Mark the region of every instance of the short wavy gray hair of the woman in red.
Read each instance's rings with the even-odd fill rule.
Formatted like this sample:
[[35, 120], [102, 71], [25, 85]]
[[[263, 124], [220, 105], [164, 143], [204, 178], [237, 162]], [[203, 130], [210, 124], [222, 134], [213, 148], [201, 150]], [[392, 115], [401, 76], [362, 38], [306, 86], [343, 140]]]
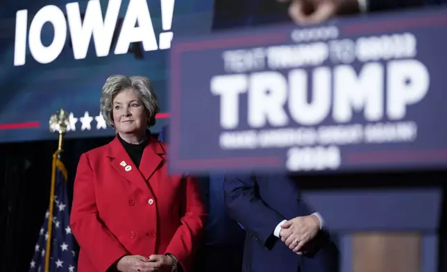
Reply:
[[107, 78], [106, 83], [103, 85], [101, 93], [101, 114], [103, 115], [106, 123], [114, 127], [113, 124], [113, 99], [119, 94], [119, 92], [133, 89], [138, 92], [140, 99], [146, 108], [148, 114], [148, 128], [155, 125], [155, 115], [160, 112], [158, 108], [158, 100], [149, 78], [144, 76], [121, 76], [114, 75]]

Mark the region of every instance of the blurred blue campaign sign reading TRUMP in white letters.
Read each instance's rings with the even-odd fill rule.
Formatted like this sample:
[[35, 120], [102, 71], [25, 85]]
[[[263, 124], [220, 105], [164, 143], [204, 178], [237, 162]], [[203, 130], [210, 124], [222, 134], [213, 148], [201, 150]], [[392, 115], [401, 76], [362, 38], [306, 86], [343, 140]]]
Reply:
[[176, 40], [171, 171], [447, 165], [447, 10]]

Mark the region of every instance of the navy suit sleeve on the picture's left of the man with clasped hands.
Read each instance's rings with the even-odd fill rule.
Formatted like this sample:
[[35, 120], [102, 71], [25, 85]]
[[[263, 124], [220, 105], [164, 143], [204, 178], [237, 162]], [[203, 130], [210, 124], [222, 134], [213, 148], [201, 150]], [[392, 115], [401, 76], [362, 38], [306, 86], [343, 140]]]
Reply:
[[258, 196], [255, 176], [226, 176], [224, 189], [230, 217], [262, 245], [267, 246], [276, 226], [285, 218]]

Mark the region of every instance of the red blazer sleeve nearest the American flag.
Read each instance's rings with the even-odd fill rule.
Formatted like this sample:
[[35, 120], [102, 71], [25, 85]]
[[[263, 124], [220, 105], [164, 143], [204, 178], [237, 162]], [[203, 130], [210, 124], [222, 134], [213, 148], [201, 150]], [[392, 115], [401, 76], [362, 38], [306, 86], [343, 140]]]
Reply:
[[84, 153], [79, 160], [74, 180], [70, 227], [96, 271], [103, 272], [129, 253], [99, 219], [93, 171], [89, 158]]

